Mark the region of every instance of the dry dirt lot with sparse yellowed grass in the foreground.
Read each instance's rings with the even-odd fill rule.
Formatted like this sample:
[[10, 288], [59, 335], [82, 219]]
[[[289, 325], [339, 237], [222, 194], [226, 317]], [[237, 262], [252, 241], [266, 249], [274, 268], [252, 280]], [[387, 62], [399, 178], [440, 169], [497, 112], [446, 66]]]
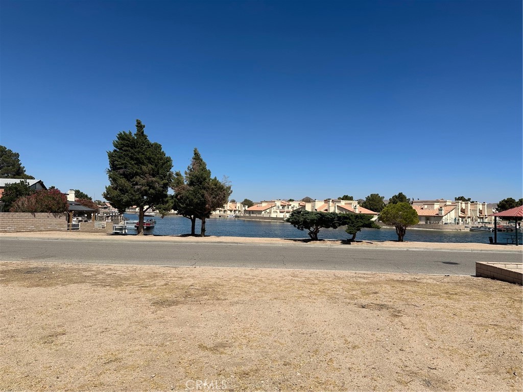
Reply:
[[331, 271], [0, 268], [2, 390], [522, 387], [522, 291], [509, 283]]

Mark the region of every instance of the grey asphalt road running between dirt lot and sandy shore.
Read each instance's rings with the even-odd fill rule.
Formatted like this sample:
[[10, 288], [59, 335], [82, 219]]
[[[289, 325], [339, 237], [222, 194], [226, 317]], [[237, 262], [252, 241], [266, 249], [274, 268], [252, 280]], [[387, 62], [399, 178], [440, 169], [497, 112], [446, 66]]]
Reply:
[[2, 238], [0, 260], [474, 275], [476, 261], [520, 262], [521, 254], [358, 249], [305, 244], [180, 244]]

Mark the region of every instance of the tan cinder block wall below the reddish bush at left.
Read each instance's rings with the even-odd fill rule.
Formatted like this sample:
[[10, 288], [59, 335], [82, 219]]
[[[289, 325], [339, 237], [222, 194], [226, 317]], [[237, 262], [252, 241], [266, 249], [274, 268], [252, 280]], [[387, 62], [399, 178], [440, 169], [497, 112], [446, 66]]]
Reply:
[[67, 214], [2, 212], [0, 233], [55, 232], [67, 230]]

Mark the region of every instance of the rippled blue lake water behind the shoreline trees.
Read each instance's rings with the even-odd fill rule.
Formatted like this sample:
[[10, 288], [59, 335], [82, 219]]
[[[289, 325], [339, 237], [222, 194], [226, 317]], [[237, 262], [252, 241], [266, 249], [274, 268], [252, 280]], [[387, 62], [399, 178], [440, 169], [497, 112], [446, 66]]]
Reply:
[[[129, 220], [137, 220], [133, 214], [124, 215]], [[152, 235], [181, 235], [191, 231], [191, 223], [183, 216], [166, 216], [163, 219], [156, 217], [156, 226], [146, 230], [145, 234]], [[279, 221], [251, 221], [243, 219], [210, 218], [206, 224], [206, 235], [221, 237], [267, 237], [267, 238], [309, 238], [307, 231], [301, 231], [287, 222]], [[200, 232], [200, 221], [196, 221], [196, 233]], [[128, 234], [136, 234], [136, 230], [128, 226]], [[513, 233], [511, 233], [513, 234]], [[407, 228], [405, 241], [429, 243], [482, 243], [488, 244], [488, 237], [494, 233], [488, 232], [454, 232], [449, 230], [425, 230]], [[344, 229], [321, 229], [320, 239], [347, 239], [349, 236]], [[505, 243], [507, 235], [497, 233], [499, 243]], [[356, 240], [388, 241], [397, 240], [394, 228], [362, 229], [356, 235]]]

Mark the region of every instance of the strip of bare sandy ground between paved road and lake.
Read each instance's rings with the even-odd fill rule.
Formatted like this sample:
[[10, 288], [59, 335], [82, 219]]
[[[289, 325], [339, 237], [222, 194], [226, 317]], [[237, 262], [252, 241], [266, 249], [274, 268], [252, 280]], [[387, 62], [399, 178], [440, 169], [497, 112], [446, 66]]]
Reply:
[[426, 243], [404, 241], [367, 241], [356, 240], [348, 243], [346, 240], [319, 240], [310, 241], [307, 238], [264, 238], [264, 237], [225, 237], [208, 236], [193, 237], [187, 235], [155, 236], [155, 235], [113, 235], [106, 233], [82, 233], [82, 232], [16, 232], [0, 233], [2, 238], [19, 239], [53, 239], [53, 240], [99, 240], [111, 241], [168, 241], [179, 243], [233, 243], [233, 244], [258, 244], [258, 245], [294, 245], [294, 246], [341, 246], [357, 247], [360, 249], [398, 249], [398, 250], [452, 250], [452, 251], [484, 251], [484, 252], [517, 252], [523, 253], [523, 246], [505, 244], [480, 244], [480, 243]]

